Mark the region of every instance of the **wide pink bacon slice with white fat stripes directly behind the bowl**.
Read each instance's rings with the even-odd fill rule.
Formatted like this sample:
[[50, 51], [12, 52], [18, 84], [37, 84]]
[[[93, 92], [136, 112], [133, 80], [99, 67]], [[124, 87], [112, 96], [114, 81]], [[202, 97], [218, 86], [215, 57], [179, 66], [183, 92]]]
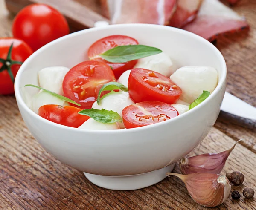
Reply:
[[167, 25], [177, 0], [101, 0], [102, 13], [112, 24], [151, 23]]

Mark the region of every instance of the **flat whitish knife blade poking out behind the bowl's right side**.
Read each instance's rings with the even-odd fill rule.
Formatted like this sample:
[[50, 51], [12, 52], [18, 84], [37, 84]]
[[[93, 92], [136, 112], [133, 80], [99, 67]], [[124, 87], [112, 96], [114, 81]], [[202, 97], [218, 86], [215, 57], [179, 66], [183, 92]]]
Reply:
[[225, 92], [221, 110], [242, 118], [256, 120], [256, 108], [228, 92]]

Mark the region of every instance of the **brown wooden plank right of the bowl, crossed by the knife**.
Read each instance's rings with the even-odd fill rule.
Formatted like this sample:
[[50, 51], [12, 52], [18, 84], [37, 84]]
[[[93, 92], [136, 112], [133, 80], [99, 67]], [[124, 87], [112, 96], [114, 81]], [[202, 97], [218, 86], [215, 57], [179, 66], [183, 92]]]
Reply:
[[[256, 107], [256, 1], [241, 0], [233, 9], [246, 17], [250, 30], [218, 39], [227, 63], [227, 91]], [[256, 121], [221, 112], [215, 127], [236, 140], [247, 139], [245, 146], [256, 151]]]

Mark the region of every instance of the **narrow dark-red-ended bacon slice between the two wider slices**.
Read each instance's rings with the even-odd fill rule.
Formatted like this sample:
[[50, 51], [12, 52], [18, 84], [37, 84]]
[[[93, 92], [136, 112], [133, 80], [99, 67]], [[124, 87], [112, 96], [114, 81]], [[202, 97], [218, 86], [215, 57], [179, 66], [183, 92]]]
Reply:
[[181, 28], [195, 19], [203, 0], [178, 0], [169, 26]]

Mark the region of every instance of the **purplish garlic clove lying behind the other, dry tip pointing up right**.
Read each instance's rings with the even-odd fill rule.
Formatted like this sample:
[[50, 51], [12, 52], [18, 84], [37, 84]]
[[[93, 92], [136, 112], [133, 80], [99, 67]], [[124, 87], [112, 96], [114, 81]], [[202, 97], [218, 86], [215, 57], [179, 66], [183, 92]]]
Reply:
[[[244, 139], [240, 139], [239, 141], [242, 141]], [[203, 155], [196, 155], [194, 157], [190, 158], [181, 158], [180, 159], [180, 171], [182, 174], [190, 174], [190, 173], [221, 173], [221, 170], [223, 169], [225, 162], [230, 155], [230, 153], [233, 151], [233, 149], [236, 147], [236, 144], [239, 142], [237, 141], [233, 147], [231, 147], [229, 150], [226, 150], [224, 152], [215, 154], [215, 153], [209, 153], [209, 154], [203, 154]]]

